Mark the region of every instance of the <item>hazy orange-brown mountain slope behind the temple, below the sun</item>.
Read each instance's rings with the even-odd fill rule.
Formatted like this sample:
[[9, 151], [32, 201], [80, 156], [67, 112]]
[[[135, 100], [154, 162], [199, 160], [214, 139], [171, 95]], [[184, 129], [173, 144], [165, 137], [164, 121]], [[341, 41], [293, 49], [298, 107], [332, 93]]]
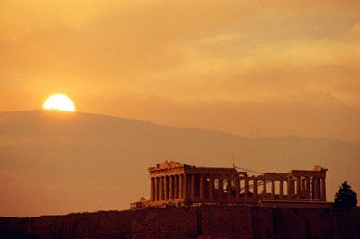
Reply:
[[147, 169], [166, 159], [235, 163], [260, 172], [329, 168], [360, 192], [360, 144], [306, 137], [250, 138], [88, 113], [0, 113], [0, 216], [129, 208], [149, 195]]

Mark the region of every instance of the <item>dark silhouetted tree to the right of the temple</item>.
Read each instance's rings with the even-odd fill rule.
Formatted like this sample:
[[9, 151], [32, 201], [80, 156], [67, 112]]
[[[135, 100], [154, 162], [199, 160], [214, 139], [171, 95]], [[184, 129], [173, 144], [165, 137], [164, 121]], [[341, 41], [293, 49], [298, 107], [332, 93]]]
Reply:
[[337, 208], [352, 208], [357, 205], [357, 194], [351, 189], [351, 186], [344, 181], [338, 192], [335, 193], [334, 205]]

